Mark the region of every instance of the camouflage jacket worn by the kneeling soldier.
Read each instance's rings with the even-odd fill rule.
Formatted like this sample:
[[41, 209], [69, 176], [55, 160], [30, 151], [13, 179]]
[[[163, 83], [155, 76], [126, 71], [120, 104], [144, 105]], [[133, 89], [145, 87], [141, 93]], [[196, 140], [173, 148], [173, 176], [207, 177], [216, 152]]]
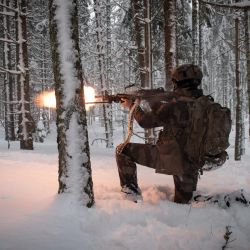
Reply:
[[[178, 90], [177, 90], [178, 91]], [[179, 90], [183, 95], [171, 102], [159, 102], [153, 105], [150, 112], [144, 112], [140, 107], [134, 117], [142, 128], [163, 127], [156, 143], [158, 155], [155, 163], [157, 173], [182, 175], [199, 168], [197, 163], [190, 162], [183, 152], [186, 136], [183, 131], [189, 124], [187, 102], [202, 95], [201, 90]]]

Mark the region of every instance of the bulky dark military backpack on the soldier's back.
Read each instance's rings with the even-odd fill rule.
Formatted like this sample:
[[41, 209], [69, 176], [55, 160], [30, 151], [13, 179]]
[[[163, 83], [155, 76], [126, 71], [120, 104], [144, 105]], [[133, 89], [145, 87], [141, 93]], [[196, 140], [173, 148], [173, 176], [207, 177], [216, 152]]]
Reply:
[[228, 159], [231, 112], [214, 102], [211, 96], [201, 96], [188, 102], [189, 124], [186, 126], [184, 153], [198, 168], [210, 170]]

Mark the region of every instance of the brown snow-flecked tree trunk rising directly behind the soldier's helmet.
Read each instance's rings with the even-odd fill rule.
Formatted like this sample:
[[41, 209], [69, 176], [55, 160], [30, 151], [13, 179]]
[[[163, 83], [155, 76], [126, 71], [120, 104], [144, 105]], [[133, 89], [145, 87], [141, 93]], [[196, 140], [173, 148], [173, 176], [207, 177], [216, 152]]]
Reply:
[[166, 89], [172, 88], [171, 72], [175, 66], [175, 3], [176, 0], [165, 0], [165, 73], [166, 73]]

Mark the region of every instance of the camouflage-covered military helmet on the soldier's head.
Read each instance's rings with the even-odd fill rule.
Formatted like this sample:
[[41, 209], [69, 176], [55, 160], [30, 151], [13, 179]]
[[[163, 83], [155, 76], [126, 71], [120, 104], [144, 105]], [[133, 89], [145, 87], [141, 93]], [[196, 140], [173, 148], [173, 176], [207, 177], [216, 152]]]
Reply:
[[198, 86], [201, 83], [202, 77], [201, 69], [194, 64], [183, 64], [175, 68], [172, 72], [172, 80], [180, 86], [184, 82], [193, 83]]

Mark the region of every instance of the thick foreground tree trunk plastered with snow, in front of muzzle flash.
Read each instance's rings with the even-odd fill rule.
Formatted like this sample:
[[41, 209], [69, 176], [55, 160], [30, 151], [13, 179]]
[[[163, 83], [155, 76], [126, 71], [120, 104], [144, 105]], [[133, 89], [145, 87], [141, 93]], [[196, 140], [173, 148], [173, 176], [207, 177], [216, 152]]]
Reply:
[[79, 49], [77, 1], [49, 1], [55, 78], [59, 190], [83, 205], [94, 204], [89, 140]]

